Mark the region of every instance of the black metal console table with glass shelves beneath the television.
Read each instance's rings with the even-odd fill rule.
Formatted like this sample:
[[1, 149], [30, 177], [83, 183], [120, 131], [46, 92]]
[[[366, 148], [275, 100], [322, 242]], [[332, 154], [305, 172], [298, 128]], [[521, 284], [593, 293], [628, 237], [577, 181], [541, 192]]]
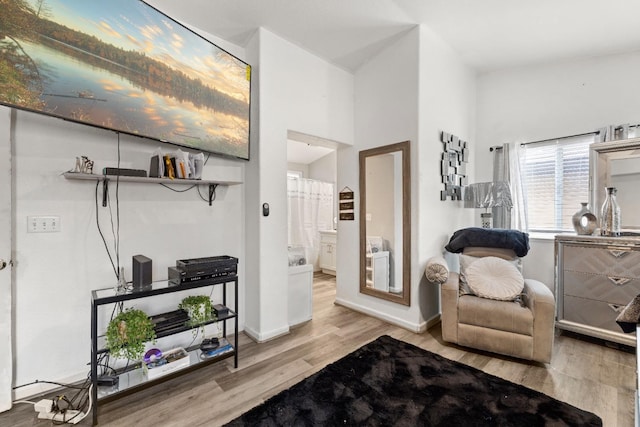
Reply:
[[[186, 348], [189, 353], [190, 364], [182, 369], [167, 373], [159, 378], [149, 380], [144, 374], [140, 363], [133, 363], [125, 369], [117, 371], [118, 384], [114, 386], [98, 387], [98, 358], [101, 354], [107, 353], [104, 347], [104, 337], [98, 335], [98, 309], [106, 304], [120, 303], [123, 301], [136, 300], [141, 298], [151, 298], [157, 295], [182, 292], [189, 289], [203, 288], [207, 286], [222, 286], [222, 304], [227, 306], [227, 286], [233, 286], [234, 289], [234, 306], [229, 307], [229, 313], [224, 316], [218, 316], [217, 320], [208, 323], [222, 322], [222, 334], [227, 338], [227, 321], [235, 319], [233, 340], [229, 343], [233, 346], [233, 350], [220, 354], [211, 358], [202, 360], [200, 358], [199, 344]], [[176, 303], [177, 305], [177, 303]], [[154, 282], [149, 288], [136, 291], [117, 291], [115, 288], [97, 289], [91, 291], [91, 398], [93, 401], [93, 424], [98, 422], [98, 406], [100, 403], [115, 400], [127, 394], [149, 387], [162, 381], [175, 378], [186, 372], [201, 368], [211, 363], [219, 362], [223, 359], [233, 357], [233, 366], [238, 367], [238, 276], [225, 276], [215, 279], [199, 280], [195, 282], [183, 283], [181, 285], [172, 285], [168, 281]], [[199, 327], [187, 326], [173, 329], [170, 332], [158, 333], [157, 338], [173, 335], [176, 333], [189, 331]]]

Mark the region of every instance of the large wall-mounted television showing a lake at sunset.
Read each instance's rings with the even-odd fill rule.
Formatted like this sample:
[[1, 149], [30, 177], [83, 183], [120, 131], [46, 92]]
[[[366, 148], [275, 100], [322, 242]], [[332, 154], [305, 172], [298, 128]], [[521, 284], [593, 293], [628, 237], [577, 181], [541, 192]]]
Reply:
[[141, 0], [0, 5], [0, 104], [249, 159], [247, 63]]

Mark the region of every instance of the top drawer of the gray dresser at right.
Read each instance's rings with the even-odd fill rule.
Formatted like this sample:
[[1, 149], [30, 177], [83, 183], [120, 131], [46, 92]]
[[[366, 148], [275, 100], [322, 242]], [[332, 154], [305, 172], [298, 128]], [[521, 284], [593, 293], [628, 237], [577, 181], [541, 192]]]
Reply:
[[616, 277], [640, 277], [640, 251], [607, 246], [563, 246], [563, 270]]

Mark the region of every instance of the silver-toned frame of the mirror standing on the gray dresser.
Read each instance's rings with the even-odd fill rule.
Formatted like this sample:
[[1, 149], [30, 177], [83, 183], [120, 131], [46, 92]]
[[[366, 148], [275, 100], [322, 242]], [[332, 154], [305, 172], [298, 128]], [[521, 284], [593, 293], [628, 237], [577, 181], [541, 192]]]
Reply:
[[[605, 199], [603, 191], [610, 174], [609, 162], [616, 158], [624, 158], [625, 153], [640, 150], [640, 138], [620, 139], [616, 141], [594, 142], [589, 145], [589, 207], [598, 220], [600, 219], [600, 207]], [[637, 224], [625, 224], [624, 213], [621, 229], [637, 230]], [[598, 223], [599, 224], [599, 223]]]

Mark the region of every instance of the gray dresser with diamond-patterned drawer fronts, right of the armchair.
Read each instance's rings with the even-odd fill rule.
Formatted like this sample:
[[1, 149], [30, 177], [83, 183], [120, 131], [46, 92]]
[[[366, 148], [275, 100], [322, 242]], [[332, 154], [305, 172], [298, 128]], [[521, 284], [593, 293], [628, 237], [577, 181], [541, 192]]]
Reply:
[[616, 316], [640, 294], [640, 239], [557, 235], [556, 326], [630, 346]]

